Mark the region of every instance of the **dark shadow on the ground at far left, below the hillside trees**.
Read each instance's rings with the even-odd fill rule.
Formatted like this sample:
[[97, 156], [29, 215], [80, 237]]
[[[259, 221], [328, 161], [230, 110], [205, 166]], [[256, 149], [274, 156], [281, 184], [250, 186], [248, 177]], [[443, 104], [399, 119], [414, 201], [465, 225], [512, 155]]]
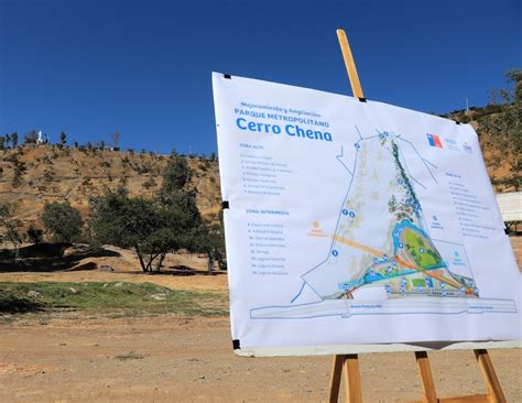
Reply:
[[[67, 252], [67, 253], [66, 253]], [[118, 258], [120, 253], [93, 249], [87, 246], [66, 243], [40, 243], [19, 249], [18, 258], [12, 250], [0, 250], [0, 272], [56, 272], [67, 270], [95, 270], [96, 263], [78, 265], [87, 258]]]

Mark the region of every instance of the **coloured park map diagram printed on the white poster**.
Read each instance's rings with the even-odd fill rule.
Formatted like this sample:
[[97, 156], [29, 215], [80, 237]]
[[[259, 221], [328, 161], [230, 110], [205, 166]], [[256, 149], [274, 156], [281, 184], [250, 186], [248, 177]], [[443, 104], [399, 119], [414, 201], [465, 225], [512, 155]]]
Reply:
[[[359, 138], [351, 170], [338, 157], [351, 179], [335, 233], [317, 224], [311, 232], [331, 238], [328, 257], [302, 275], [290, 305], [251, 309], [251, 318], [516, 312], [513, 301], [480, 297], [464, 244], [431, 238], [415, 192], [424, 185], [401, 146], [413, 148], [434, 182], [435, 165], [394, 133]], [[305, 287], [317, 302], [298, 303]]]

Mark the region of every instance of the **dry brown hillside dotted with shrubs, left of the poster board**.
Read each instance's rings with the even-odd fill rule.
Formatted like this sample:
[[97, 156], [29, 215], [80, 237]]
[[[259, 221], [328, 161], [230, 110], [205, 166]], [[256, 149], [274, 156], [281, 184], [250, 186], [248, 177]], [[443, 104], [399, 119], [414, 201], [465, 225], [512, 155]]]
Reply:
[[[124, 185], [131, 196], [152, 197], [162, 183], [168, 155], [23, 145], [0, 151], [0, 200], [13, 203], [24, 227], [40, 217], [46, 202], [68, 200], [84, 216], [91, 196]], [[188, 159], [192, 185], [203, 217], [215, 221], [220, 209], [217, 161]]]

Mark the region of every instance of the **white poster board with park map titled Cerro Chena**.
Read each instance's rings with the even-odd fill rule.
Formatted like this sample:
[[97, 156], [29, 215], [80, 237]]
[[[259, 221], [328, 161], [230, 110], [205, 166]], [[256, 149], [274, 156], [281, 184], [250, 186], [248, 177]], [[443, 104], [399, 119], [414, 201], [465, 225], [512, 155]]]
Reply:
[[236, 348], [521, 337], [470, 126], [217, 73], [213, 87]]

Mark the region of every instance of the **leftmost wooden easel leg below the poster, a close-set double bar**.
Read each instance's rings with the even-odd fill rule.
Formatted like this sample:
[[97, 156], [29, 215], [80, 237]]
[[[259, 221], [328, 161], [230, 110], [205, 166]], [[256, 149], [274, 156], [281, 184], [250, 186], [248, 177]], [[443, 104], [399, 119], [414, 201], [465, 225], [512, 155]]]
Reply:
[[359, 371], [359, 358], [357, 355], [340, 355], [334, 357], [328, 402], [337, 403], [339, 399], [342, 368], [345, 368], [347, 402], [361, 403], [361, 377]]

